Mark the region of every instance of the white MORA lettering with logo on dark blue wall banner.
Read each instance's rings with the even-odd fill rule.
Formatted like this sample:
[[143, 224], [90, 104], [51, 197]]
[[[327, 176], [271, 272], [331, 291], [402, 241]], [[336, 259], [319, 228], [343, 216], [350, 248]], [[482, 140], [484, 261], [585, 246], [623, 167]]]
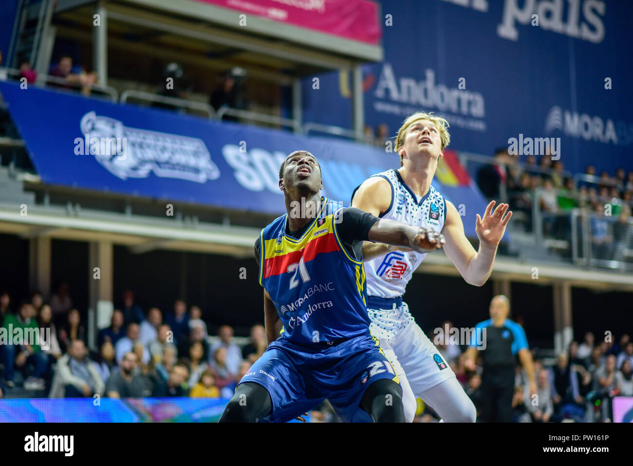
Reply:
[[585, 141], [591, 140], [603, 144], [628, 146], [633, 142], [633, 125], [629, 123], [618, 122], [616, 131], [611, 118], [605, 121], [599, 116], [563, 111], [559, 106], [553, 106], [545, 118], [545, 131], [551, 133], [555, 130], [560, 130], [571, 137], [582, 137]]

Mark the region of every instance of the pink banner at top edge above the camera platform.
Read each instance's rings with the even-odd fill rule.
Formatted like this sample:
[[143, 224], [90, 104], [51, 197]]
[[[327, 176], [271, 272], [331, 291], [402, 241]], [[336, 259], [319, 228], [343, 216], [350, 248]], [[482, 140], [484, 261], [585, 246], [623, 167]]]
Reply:
[[[377, 45], [378, 5], [368, 0], [196, 0], [325, 34]], [[247, 18], [248, 20], [248, 18]]]

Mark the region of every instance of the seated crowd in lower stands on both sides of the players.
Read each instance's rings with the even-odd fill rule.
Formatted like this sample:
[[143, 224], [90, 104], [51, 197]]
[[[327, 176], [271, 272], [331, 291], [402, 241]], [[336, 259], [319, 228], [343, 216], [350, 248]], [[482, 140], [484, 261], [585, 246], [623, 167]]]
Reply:
[[[208, 336], [199, 307], [187, 309], [185, 301], [177, 299], [170, 312], [153, 307], [145, 313], [132, 291], [125, 291], [110, 326], [97, 335], [97, 350], [89, 351], [85, 326], [66, 284], [61, 284], [49, 303], [34, 293], [30, 300], [13, 306], [9, 294], [1, 293], [0, 321], [4, 329], [9, 325], [50, 329], [41, 344], [0, 345], [0, 393], [5, 396], [15, 390], [19, 372], [24, 390], [50, 398], [97, 394], [230, 398], [266, 349], [262, 325], [251, 328], [250, 343], [243, 347], [234, 342], [229, 325], [220, 327], [211, 343], [214, 339]], [[441, 328], [452, 327], [445, 322]], [[468, 370], [465, 348], [448, 340], [439, 339], [437, 348], [479, 409], [481, 367]], [[610, 338], [596, 342], [594, 334], [587, 332], [582, 343], [572, 341], [549, 367], [533, 353], [539, 401], [534, 404], [527, 375], [517, 365], [513, 400], [517, 422], [609, 421], [613, 396], [633, 396], [633, 341], [628, 334], [613, 343]], [[417, 422], [437, 422], [428, 406], [420, 403], [418, 408]], [[327, 401], [310, 413], [310, 420], [340, 422]]]

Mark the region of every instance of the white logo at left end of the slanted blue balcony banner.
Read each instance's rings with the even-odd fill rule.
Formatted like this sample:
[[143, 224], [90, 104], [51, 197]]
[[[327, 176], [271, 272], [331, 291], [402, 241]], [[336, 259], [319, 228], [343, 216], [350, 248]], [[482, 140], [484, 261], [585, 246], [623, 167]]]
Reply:
[[158, 131], [130, 128], [119, 120], [86, 113], [80, 123], [84, 139], [75, 139], [75, 154], [91, 154], [122, 180], [161, 178], [204, 183], [220, 177], [204, 141]]

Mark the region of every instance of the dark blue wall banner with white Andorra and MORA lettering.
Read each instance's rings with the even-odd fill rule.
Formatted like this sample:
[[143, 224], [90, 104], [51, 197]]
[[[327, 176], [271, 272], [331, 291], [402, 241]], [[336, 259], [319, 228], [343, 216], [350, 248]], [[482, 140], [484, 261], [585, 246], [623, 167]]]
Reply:
[[[630, 1], [381, 3], [385, 60], [363, 69], [374, 129], [386, 123], [394, 136], [406, 116], [434, 111], [458, 151], [548, 138], [573, 172], [633, 170]], [[320, 75], [316, 87], [304, 80], [304, 120], [350, 128], [351, 76]]]

